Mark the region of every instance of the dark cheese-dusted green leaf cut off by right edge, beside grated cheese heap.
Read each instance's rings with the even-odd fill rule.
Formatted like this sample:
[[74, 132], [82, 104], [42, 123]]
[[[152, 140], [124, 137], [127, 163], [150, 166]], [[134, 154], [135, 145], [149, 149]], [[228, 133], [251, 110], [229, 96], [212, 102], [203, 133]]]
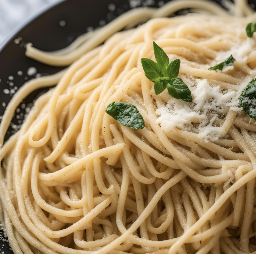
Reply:
[[239, 107], [256, 120], [256, 77], [242, 91], [238, 99]]

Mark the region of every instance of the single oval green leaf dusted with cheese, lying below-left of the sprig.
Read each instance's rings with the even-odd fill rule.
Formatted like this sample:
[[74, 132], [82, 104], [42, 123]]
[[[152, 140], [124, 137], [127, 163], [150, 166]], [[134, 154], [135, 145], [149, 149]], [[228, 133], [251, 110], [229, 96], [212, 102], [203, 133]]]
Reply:
[[139, 130], [145, 127], [145, 122], [134, 105], [112, 102], [107, 106], [106, 113], [116, 119], [119, 124], [131, 127], [131, 129]]

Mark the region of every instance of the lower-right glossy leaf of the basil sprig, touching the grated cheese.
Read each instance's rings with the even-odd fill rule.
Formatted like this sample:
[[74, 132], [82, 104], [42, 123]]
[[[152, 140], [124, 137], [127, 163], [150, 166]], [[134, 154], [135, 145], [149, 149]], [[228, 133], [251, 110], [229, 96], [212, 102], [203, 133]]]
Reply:
[[176, 99], [192, 102], [191, 91], [181, 78], [175, 77], [167, 85], [168, 93]]

